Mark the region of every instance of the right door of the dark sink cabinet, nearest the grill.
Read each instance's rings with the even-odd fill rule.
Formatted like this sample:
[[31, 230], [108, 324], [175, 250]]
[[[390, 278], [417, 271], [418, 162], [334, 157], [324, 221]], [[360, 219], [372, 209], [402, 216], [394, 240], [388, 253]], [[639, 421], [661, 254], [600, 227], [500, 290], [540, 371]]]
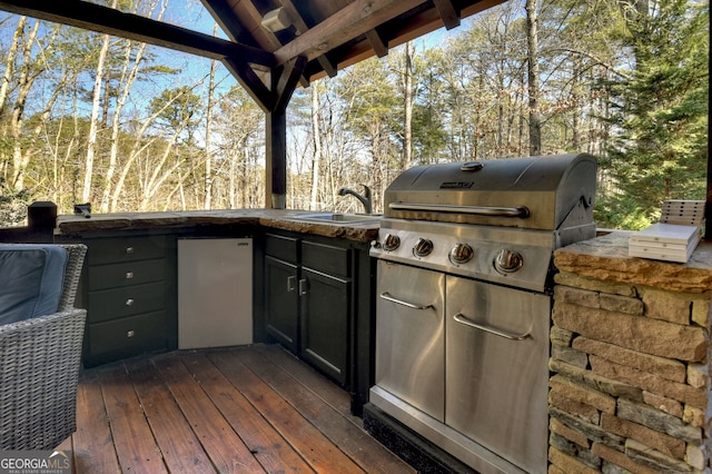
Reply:
[[300, 355], [342, 385], [348, 374], [350, 280], [301, 268]]

